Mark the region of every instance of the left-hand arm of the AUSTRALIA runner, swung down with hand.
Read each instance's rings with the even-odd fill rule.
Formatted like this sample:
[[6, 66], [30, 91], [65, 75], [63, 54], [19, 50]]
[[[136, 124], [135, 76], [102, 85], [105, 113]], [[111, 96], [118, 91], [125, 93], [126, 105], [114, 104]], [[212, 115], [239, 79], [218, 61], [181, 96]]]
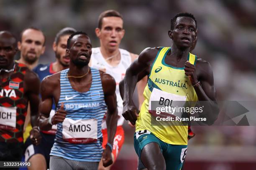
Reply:
[[138, 74], [150, 67], [158, 50], [158, 48], [146, 48], [141, 52], [138, 59], [126, 70], [124, 78], [123, 117], [133, 125], [135, 125], [138, 117], [138, 110], [132, 101], [132, 95], [138, 81]]

